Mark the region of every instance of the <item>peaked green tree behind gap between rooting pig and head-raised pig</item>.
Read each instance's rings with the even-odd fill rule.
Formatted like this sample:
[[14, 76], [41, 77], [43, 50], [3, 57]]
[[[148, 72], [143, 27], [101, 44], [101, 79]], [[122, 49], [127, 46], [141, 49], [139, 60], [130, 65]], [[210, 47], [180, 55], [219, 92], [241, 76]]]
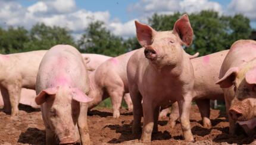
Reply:
[[80, 51], [84, 53], [97, 53], [107, 56], [118, 56], [126, 53], [121, 37], [114, 36], [101, 21], [91, 22], [85, 33], [78, 41]]

